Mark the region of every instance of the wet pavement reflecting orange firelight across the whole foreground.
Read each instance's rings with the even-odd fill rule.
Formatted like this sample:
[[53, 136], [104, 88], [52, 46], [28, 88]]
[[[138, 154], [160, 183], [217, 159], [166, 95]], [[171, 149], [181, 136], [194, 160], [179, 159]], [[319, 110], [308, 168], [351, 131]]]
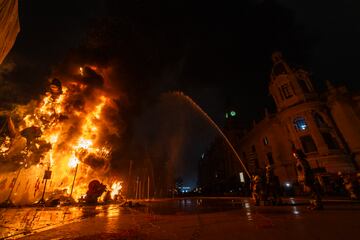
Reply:
[[306, 199], [253, 206], [247, 198], [167, 199], [119, 205], [0, 209], [5, 239], [345, 239], [360, 237], [360, 203]]

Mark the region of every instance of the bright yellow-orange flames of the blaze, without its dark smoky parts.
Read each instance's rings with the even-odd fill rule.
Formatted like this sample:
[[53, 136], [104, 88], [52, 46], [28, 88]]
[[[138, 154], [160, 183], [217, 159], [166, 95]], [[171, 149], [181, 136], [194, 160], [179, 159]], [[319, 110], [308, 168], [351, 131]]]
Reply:
[[[97, 70], [96, 67], [91, 68]], [[79, 70], [82, 75], [84, 69], [80, 68]], [[59, 91], [56, 96], [47, 92], [37, 107], [32, 102], [32, 105], [29, 103], [27, 106], [19, 106], [17, 109], [20, 119], [23, 119], [19, 123], [19, 131], [30, 127], [36, 127], [41, 131], [41, 136], [37, 138], [38, 142], [34, 144], [35, 150], [39, 151], [44, 143], [51, 146], [41, 156], [39, 162], [24, 170], [24, 172], [26, 171], [24, 175], [29, 179], [36, 180], [42, 178], [44, 170], [50, 167], [52, 183], [47, 192], [57, 189], [69, 190], [72, 186], [73, 169], [78, 166], [72, 193], [75, 200], [86, 193], [88, 183], [93, 179], [101, 177], [104, 183], [111, 184], [110, 180], [102, 176], [103, 173], [94, 170], [87, 161], [92, 159], [109, 161], [111, 147], [104, 143], [101, 131], [106, 127], [103, 110], [105, 107], [113, 106], [113, 102], [107, 97], [105, 91], [96, 90], [97, 92], [91, 97], [84, 98], [83, 108], [73, 107], [71, 101], [73, 95], [81, 93], [85, 89], [86, 85], [83, 83], [69, 81], [63, 84], [62, 91]], [[5, 139], [0, 146], [0, 154], [5, 154], [10, 146], [10, 139]], [[30, 148], [23, 150], [26, 158], [33, 154], [32, 151]], [[30, 182], [30, 184], [35, 186], [35, 182]], [[121, 188], [121, 181], [112, 183], [111, 196], [114, 197], [118, 194]], [[28, 192], [28, 190], [24, 192]], [[35, 198], [38, 197], [37, 194], [38, 192], [35, 191]], [[30, 199], [29, 201], [34, 200]]]

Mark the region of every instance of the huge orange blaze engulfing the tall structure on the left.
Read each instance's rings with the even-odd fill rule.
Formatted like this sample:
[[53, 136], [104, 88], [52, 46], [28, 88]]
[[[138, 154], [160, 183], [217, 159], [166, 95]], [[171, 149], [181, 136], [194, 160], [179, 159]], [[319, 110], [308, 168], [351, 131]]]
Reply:
[[[13, 201], [35, 202], [42, 194], [44, 179], [47, 180], [45, 170], [52, 172], [46, 189], [49, 197], [54, 192], [71, 192], [77, 201], [94, 179], [112, 186], [108, 189], [114, 192], [112, 197], [118, 194], [120, 179], [108, 176], [112, 148], [106, 138], [113, 130], [104, 117], [105, 110], [116, 110], [115, 104], [102, 87], [91, 87], [92, 79], [90, 83], [83, 80], [85, 70], [80, 69], [82, 81], [53, 79], [39, 103], [13, 111], [18, 120], [12, 120], [11, 115], [7, 121], [10, 133], [0, 142], [0, 157], [18, 166], [15, 171], [1, 174], [1, 199], [9, 192], [7, 184], [1, 184], [20, 173]], [[87, 71], [96, 74], [90, 68]]]

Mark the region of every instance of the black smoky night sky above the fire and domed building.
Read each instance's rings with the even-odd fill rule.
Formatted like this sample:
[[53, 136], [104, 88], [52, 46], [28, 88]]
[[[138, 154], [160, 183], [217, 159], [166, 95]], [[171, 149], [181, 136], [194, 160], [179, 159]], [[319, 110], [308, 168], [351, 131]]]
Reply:
[[[194, 185], [197, 159], [214, 133], [163, 93], [183, 91], [220, 125], [234, 109], [246, 127], [265, 107], [274, 111], [267, 87], [276, 50], [309, 70], [319, 90], [327, 79], [359, 90], [360, 3], [237, 2], [20, 0], [21, 32], [0, 67], [1, 106], [39, 97], [59, 66], [111, 64], [114, 84], [127, 96], [123, 148], [148, 152], [157, 133], [174, 137], [184, 145], [177, 174]], [[166, 132], [174, 126], [183, 130]]]

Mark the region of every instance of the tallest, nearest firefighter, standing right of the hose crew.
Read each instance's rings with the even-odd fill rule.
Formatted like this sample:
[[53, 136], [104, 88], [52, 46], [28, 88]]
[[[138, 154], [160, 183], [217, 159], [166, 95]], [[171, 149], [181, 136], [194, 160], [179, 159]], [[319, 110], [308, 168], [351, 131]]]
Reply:
[[310, 207], [311, 210], [323, 209], [321, 200], [321, 187], [316, 180], [315, 175], [301, 150], [293, 149], [293, 156], [296, 159], [296, 171], [298, 182], [304, 187], [304, 191], [311, 193]]

